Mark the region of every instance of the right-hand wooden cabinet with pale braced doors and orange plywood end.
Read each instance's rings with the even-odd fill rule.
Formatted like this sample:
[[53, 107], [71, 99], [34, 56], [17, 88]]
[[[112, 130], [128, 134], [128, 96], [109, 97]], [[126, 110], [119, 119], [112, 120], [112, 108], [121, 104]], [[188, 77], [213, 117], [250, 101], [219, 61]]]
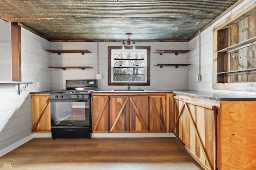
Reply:
[[206, 170], [254, 170], [255, 105], [176, 94], [173, 132]]

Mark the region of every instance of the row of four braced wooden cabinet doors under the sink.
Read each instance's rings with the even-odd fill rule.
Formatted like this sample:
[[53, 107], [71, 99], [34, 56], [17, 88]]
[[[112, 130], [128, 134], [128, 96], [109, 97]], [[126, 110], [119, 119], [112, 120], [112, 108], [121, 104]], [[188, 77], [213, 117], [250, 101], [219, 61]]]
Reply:
[[166, 93], [92, 93], [92, 132], [169, 132], [169, 104]]

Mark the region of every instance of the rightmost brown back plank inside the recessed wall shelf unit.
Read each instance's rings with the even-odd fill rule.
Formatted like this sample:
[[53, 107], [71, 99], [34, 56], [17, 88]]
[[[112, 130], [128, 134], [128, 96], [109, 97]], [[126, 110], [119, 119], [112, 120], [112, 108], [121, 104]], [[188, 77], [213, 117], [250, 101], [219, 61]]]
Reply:
[[[256, 13], [248, 16], [248, 39], [256, 37]], [[248, 68], [256, 68], [256, 45], [248, 47]], [[256, 82], [256, 73], [248, 74], [248, 82]]]

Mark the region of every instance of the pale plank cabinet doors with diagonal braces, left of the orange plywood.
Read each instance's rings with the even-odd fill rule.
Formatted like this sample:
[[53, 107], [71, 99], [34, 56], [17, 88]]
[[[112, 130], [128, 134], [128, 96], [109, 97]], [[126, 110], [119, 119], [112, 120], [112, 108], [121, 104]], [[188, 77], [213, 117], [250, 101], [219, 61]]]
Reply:
[[216, 169], [216, 106], [174, 96], [173, 132], [204, 169]]

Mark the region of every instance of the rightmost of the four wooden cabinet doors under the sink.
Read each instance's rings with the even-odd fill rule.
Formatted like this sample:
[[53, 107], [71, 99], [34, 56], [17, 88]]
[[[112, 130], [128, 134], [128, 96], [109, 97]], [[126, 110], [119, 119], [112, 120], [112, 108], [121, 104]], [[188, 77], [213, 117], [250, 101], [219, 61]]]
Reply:
[[150, 96], [149, 131], [166, 132], [166, 96]]

